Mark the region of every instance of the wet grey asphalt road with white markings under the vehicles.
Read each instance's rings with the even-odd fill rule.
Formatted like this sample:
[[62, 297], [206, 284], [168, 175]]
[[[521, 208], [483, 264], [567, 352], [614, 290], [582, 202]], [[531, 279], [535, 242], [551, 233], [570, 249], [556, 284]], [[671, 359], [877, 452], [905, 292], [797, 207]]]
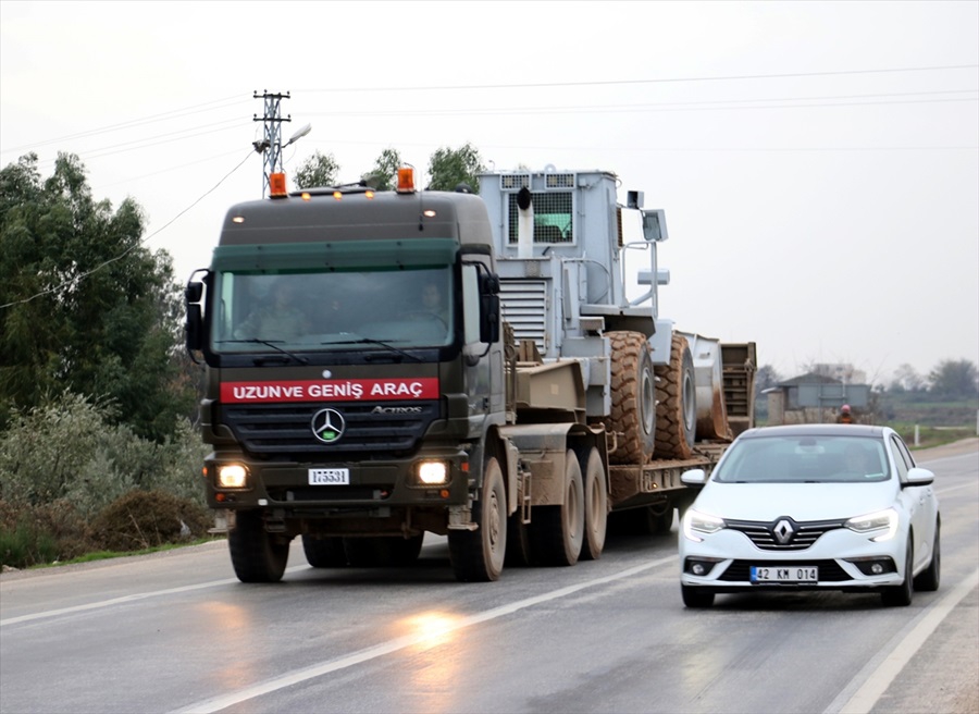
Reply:
[[686, 611], [668, 537], [455, 582], [310, 568], [246, 586], [223, 543], [0, 577], [0, 712], [976, 712], [979, 442], [918, 455], [942, 587], [719, 595]]

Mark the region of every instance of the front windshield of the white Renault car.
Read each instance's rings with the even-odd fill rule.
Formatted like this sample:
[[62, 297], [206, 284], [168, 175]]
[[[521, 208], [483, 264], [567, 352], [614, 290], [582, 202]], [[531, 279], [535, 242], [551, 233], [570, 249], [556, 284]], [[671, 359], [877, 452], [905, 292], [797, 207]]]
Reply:
[[883, 442], [860, 436], [742, 439], [712, 480], [720, 483], [866, 483], [890, 478]]

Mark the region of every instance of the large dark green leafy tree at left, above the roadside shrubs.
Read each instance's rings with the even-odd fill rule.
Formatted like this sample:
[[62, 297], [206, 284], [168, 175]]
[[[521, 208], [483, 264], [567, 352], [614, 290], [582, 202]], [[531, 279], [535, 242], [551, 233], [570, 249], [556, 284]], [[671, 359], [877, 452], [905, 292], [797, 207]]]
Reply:
[[193, 410], [181, 288], [142, 232], [132, 198], [115, 211], [92, 198], [74, 155], [45, 181], [34, 153], [0, 171], [0, 428], [65, 390], [108, 399], [157, 441]]

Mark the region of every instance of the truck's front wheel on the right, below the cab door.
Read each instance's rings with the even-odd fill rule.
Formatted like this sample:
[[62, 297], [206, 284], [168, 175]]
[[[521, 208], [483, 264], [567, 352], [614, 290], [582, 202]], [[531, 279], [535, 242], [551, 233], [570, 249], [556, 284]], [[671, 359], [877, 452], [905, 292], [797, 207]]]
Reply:
[[448, 532], [449, 561], [456, 579], [490, 582], [499, 579], [507, 553], [507, 492], [499, 461], [494, 457], [483, 466], [483, 488], [473, 503], [476, 530]]

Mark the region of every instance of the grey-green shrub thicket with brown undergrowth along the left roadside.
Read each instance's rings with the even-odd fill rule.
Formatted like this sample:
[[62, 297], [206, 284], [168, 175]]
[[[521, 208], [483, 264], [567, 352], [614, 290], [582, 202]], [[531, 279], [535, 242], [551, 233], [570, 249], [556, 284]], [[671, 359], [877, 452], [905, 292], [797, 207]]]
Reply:
[[205, 446], [186, 420], [163, 443], [113, 424], [111, 405], [65, 392], [13, 411], [0, 433], [0, 558], [25, 567], [182, 540], [210, 525]]

